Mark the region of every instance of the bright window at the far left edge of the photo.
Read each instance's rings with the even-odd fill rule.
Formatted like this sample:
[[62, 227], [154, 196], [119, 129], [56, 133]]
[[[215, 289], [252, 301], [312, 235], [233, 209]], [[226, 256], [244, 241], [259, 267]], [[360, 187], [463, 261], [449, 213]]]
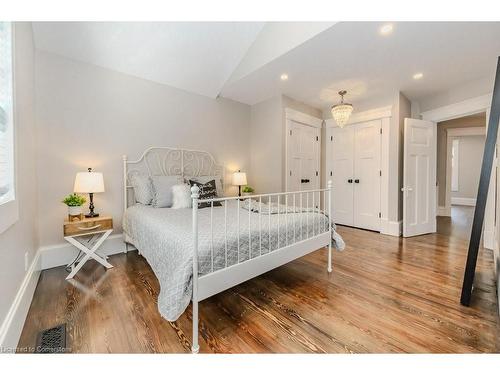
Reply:
[[0, 22], [0, 206], [15, 199], [12, 31]]

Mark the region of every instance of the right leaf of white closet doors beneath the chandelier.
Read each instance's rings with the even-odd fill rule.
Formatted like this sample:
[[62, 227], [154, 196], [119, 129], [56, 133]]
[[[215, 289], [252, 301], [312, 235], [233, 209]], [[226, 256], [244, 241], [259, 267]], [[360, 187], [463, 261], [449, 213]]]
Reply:
[[353, 126], [354, 226], [380, 230], [380, 129], [381, 121]]

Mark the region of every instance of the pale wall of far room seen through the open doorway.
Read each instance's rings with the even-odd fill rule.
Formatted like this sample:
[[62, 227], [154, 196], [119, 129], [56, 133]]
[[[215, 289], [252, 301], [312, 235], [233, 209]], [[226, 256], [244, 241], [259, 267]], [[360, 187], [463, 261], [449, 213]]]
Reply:
[[452, 191], [452, 198], [476, 199], [479, 175], [483, 162], [485, 137], [483, 135], [453, 137], [458, 146], [458, 191]]

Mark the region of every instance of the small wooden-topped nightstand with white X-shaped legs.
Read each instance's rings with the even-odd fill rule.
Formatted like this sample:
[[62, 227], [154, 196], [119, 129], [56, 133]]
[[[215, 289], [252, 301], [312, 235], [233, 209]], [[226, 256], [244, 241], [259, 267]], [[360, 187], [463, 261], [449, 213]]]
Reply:
[[68, 264], [71, 272], [66, 280], [72, 279], [91, 258], [106, 268], [113, 268], [106, 260], [107, 257], [96, 253], [111, 232], [113, 232], [113, 218], [110, 216], [86, 218], [80, 221], [64, 221], [64, 239], [80, 250], [80, 254], [85, 254], [81, 259], [79, 259], [79, 254], [72, 263]]

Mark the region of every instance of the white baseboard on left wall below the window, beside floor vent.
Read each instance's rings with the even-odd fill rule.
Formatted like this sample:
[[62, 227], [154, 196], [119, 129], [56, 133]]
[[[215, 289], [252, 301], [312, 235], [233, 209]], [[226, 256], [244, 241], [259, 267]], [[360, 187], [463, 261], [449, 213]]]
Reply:
[[28, 315], [31, 300], [33, 299], [40, 276], [39, 261], [40, 252], [38, 251], [0, 327], [0, 348], [2, 348], [3, 353], [13, 353], [21, 337], [24, 321]]

